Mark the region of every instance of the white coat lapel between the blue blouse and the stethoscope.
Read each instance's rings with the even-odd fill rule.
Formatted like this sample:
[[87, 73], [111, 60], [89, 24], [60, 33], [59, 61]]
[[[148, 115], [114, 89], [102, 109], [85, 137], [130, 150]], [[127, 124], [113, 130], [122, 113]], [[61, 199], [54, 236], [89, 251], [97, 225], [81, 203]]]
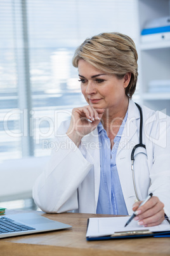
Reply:
[[133, 213], [132, 206], [136, 199], [133, 187], [133, 178], [131, 173], [131, 150], [133, 146], [138, 144], [138, 133], [136, 120], [140, 118], [138, 108], [133, 101], [129, 101], [128, 118], [124, 131], [122, 133], [119, 148], [117, 150], [116, 164], [121, 182], [122, 192], [128, 213]]

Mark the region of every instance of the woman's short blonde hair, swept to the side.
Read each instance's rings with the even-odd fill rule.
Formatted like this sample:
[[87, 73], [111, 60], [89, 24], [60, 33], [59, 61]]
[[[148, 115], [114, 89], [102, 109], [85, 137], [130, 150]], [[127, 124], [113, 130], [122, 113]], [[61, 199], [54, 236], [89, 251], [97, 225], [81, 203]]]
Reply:
[[75, 68], [80, 59], [120, 79], [126, 73], [131, 73], [131, 80], [126, 87], [126, 96], [131, 99], [138, 79], [138, 53], [133, 39], [118, 32], [98, 34], [86, 39], [75, 50], [72, 59]]

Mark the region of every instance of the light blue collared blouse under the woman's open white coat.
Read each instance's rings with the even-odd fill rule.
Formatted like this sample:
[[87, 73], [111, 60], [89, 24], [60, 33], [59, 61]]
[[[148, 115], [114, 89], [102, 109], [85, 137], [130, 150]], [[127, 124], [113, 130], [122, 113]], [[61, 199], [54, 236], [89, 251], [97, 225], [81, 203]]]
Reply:
[[128, 111], [124, 117], [119, 132], [114, 138], [114, 146], [111, 150], [110, 139], [103, 125], [98, 124], [98, 136], [100, 142], [100, 191], [96, 213], [128, 215], [124, 196], [122, 194], [119, 174], [115, 157], [121, 140], [122, 131], [128, 117]]

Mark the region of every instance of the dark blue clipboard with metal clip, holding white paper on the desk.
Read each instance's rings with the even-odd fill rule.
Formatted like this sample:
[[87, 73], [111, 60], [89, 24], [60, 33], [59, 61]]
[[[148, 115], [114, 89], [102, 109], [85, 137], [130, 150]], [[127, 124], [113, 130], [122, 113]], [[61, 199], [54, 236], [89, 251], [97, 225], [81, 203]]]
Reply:
[[[110, 217], [108, 217], [110, 218]], [[116, 218], [124, 218], [124, 217], [114, 217]], [[108, 240], [108, 239], [127, 239], [127, 238], [145, 238], [145, 237], [154, 237], [154, 238], [169, 238], [170, 237], [170, 225], [167, 223], [167, 227], [169, 230], [166, 231], [152, 231], [148, 228], [143, 228], [143, 230], [126, 230], [126, 231], [115, 231], [114, 234], [102, 234], [91, 236], [89, 235], [88, 228], [89, 228], [89, 220], [88, 218], [87, 223], [87, 233], [86, 233], [86, 240], [87, 241], [98, 241], [98, 240]], [[93, 218], [94, 219], [94, 218]], [[101, 219], [101, 218], [98, 218]]]

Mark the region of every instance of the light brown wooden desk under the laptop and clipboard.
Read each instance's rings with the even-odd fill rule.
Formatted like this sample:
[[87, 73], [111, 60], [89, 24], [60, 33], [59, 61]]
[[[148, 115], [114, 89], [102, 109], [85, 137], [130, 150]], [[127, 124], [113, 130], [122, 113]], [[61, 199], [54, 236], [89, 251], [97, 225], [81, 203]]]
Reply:
[[[16, 211], [7, 211], [6, 215], [11, 213], [16, 213]], [[62, 213], [43, 214], [42, 216], [72, 225], [72, 229], [0, 239], [0, 255], [170, 255], [170, 238], [86, 241], [87, 218], [110, 217], [110, 215]]]

